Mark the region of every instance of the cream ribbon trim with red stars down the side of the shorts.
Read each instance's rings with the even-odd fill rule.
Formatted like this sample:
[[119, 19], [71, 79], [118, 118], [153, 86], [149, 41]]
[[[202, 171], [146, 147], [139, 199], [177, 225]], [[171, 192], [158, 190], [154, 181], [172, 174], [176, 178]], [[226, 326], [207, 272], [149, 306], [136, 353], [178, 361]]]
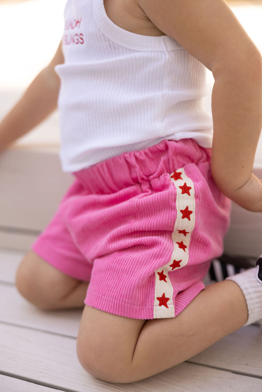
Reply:
[[182, 268], [188, 263], [189, 242], [195, 225], [195, 192], [193, 181], [183, 168], [170, 174], [176, 187], [176, 222], [172, 232], [174, 249], [171, 260], [155, 271], [154, 318], [175, 317], [173, 286], [168, 272]]

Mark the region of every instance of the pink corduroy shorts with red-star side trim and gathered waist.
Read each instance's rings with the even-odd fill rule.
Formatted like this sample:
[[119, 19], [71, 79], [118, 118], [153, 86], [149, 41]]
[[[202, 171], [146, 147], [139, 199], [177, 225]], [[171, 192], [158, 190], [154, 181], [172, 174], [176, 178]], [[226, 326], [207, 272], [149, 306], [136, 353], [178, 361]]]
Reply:
[[177, 316], [223, 252], [230, 200], [211, 149], [162, 140], [72, 173], [72, 185], [31, 248], [90, 282], [84, 303], [135, 319]]

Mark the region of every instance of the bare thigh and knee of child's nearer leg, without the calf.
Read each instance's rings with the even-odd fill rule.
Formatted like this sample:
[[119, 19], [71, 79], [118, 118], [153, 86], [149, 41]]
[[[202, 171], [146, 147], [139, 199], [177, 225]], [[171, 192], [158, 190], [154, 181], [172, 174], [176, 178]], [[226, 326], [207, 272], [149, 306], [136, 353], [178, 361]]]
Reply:
[[146, 321], [85, 305], [77, 336], [77, 357], [82, 367], [100, 379], [128, 379], [137, 338]]

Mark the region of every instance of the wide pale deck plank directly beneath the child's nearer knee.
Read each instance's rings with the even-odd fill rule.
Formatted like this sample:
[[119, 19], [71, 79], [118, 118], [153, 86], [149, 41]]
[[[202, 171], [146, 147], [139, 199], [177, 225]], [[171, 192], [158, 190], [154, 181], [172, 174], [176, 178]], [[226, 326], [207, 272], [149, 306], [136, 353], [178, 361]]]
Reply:
[[75, 392], [262, 390], [261, 379], [185, 362], [135, 383], [107, 383], [82, 369], [75, 346], [75, 339], [0, 324], [0, 372]]

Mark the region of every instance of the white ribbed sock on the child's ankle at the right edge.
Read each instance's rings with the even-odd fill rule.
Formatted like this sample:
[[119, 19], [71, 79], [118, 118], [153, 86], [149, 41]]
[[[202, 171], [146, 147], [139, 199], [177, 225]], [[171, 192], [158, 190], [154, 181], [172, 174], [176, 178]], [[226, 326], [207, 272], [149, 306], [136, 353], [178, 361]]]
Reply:
[[255, 323], [262, 318], [262, 281], [258, 278], [258, 269], [259, 265], [225, 279], [233, 280], [243, 291], [248, 309], [245, 325]]

